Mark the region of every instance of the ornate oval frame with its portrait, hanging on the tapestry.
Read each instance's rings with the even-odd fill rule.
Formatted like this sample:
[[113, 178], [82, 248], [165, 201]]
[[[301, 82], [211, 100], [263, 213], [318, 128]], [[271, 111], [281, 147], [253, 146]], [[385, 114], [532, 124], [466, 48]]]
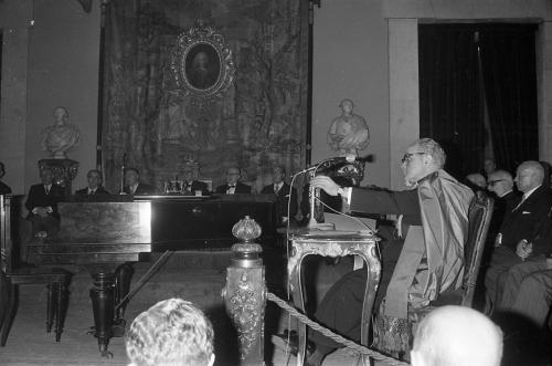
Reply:
[[201, 21], [178, 36], [171, 70], [180, 91], [199, 104], [221, 97], [235, 73], [223, 35]]

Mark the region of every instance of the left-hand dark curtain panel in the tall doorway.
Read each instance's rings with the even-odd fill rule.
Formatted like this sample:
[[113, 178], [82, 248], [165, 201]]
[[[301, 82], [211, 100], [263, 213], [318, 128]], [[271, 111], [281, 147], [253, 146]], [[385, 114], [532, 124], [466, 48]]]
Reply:
[[420, 25], [420, 137], [442, 144], [458, 179], [482, 163], [477, 49], [463, 25]]

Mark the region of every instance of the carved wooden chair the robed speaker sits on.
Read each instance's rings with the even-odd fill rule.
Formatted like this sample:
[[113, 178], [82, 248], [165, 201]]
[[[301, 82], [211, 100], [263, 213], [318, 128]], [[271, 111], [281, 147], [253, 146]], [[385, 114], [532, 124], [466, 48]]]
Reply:
[[[433, 301], [426, 307], [416, 310], [408, 307], [408, 320], [407, 322], [404, 322], [406, 324], [399, 324], [395, 326], [399, 330], [396, 332], [400, 333], [399, 337], [403, 339], [403, 342], [401, 342], [402, 345], [405, 343], [412, 343], [413, 333], [415, 332], [417, 323], [421, 322], [425, 315], [427, 315], [435, 307], [444, 305], [461, 305], [471, 307], [493, 205], [493, 199], [488, 196], [478, 197], [471, 203], [468, 212], [468, 239], [464, 248], [465, 269], [463, 285], [455, 291], [442, 293], [438, 299]], [[388, 324], [386, 320], [379, 314], [374, 326], [375, 348], [391, 353], [397, 358], [407, 358], [410, 349], [401, 348], [394, 352], [386, 349], [386, 347], [379, 344], [380, 339], [385, 337], [389, 328], [390, 324]]]

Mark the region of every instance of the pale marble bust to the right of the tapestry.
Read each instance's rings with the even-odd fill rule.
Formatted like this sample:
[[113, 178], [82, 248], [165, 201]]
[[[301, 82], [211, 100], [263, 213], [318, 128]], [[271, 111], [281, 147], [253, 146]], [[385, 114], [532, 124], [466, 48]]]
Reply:
[[327, 136], [328, 144], [339, 156], [358, 156], [359, 150], [365, 149], [370, 142], [367, 121], [352, 113], [354, 104], [351, 100], [341, 101], [339, 106], [341, 115], [331, 122]]

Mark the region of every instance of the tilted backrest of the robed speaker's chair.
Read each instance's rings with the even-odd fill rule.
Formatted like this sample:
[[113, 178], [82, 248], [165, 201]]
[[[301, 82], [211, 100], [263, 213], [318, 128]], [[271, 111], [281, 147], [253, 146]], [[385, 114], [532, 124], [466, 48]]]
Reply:
[[474, 292], [479, 274], [479, 265], [485, 250], [485, 241], [489, 230], [490, 218], [492, 216], [492, 207], [495, 200], [482, 195], [477, 197], [468, 212], [468, 240], [464, 247], [465, 270], [461, 305], [471, 307], [474, 301]]

